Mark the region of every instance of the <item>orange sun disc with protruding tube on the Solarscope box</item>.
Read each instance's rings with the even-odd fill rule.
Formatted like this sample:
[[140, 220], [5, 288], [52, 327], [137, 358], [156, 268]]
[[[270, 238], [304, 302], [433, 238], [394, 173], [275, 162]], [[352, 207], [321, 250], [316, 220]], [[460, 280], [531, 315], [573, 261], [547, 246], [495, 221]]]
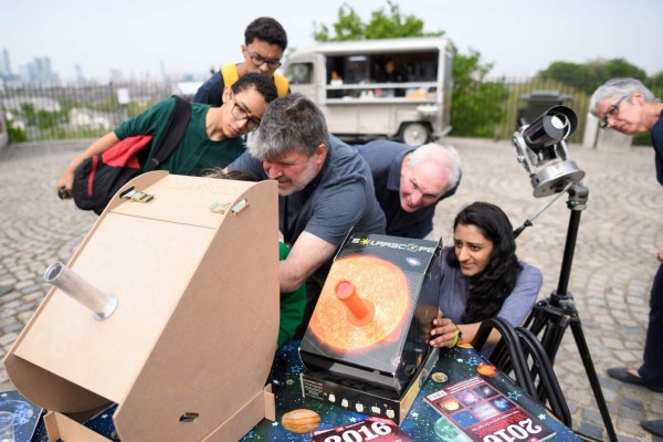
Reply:
[[401, 269], [375, 256], [343, 257], [332, 266], [308, 328], [330, 348], [365, 349], [397, 339], [409, 307]]

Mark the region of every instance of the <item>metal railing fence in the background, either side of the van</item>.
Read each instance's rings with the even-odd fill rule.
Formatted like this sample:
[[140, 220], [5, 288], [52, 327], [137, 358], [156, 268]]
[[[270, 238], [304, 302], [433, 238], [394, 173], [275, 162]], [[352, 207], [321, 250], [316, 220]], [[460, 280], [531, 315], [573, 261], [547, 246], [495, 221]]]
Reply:
[[[663, 84], [648, 86], [656, 96], [663, 96]], [[545, 92], [549, 96], [558, 94], [559, 103], [576, 112], [578, 129], [569, 140], [579, 143], [596, 85], [503, 77], [454, 87], [452, 136], [511, 139], [519, 118], [528, 107], [533, 110], [534, 103], [524, 98]], [[0, 87], [0, 113], [10, 143], [90, 138], [108, 133], [173, 93], [178, 93], [175, 85], [156, 83]], [[550, 102], [554, 104], [558, 103]], [[540, 107], [540, 103], [537, 105]], [[634, 143], [649, 144], [645, 135], [635, 137]]]

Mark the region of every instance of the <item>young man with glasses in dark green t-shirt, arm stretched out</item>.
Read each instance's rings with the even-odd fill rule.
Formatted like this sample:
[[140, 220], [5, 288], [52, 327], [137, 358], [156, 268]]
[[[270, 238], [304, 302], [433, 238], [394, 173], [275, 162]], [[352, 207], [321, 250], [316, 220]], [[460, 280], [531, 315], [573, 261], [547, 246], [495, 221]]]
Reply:
[[[276, 87], [269, 77], [257, 73], [244, 75], [232, 86], [223, 90], [224, 104], [213, 107], [206, 104], [191, 104], [191, 119], [177, 149], [157, 169], [170, 173], [198, 177], [207, 169], [223, 168], [245, 150], [243, 135], [255, 129], [267, 103], [276, 98]], [[64, 188], [71, 193], [74, 172], [83, 161], [103, 154], [120, 139], [137, 135], [151, 135], [152, 151], [166, 133], [168, 119], [175, 107], [175, 98], [166, 98], [140, 115], [137, 115], [114, 131], [93, 143], [83, 154], [66, 167], [55, 188]]]

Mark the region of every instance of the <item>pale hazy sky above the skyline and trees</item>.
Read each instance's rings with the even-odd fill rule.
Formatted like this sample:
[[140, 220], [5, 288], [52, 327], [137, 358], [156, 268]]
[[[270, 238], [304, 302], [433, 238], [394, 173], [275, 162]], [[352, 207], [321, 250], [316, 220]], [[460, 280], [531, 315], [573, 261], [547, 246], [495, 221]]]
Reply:
[[[461, 53], [493, 63], [492, 76], [528, 76], [556, 61], [625, 59], [648, 75], [663, 71], [661, 0], [394, 0], [402, 14], [444, 31]], [[288, 48], [315, 44], [314, 23], [332, 25], [343, 0], [0, 0], [0, 49], [14, 73], [49, 56], [63, 80], [150, 73], [206, 75], [241, 61], [246, 24], [273, 17]], [[387, 0], [349, 2], [366, 22]]]

